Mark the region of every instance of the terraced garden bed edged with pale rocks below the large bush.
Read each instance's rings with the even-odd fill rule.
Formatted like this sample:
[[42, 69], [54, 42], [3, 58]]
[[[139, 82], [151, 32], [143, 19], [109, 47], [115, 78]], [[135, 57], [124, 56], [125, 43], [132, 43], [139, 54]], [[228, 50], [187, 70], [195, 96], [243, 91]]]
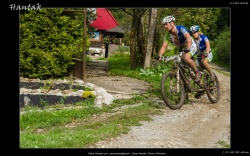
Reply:
[[[24, 81], [25, 80], [25, 81]], [[50, 81], [51, 82], [51, 81]], [[85, 83], [82, 80], [74, 80], [74, 84], [66, 80], [53, 80], [53, 84], [49, 84], [50, 88], [41, 89], [48, 84], [49, 81], [29, 81], [21, 78], [20, 86], [20, 107], [29, 105], [51, 105], [57, 103], [72, 104], [83, 100], [82, 94], [85, 87], [90, 88], [96, 96], [95, 104], [97, 107], [102, 107], [102, 103], [110, 105], [114, 97], [107, 93], [106, 89], [98, 87], [91, 83]], [[72, 84], [71, 86], [69, 84]], [[52, 86], [52, 87], [51, 87]], [[71, 89], [70, 89], [71, 87]], [[72, 89], [77, 89], [74, 92]]]

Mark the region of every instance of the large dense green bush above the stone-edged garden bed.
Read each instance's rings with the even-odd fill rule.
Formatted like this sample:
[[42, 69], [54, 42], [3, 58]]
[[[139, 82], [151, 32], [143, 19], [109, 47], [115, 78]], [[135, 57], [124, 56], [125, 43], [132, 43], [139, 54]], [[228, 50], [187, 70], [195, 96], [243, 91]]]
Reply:
[[82, 53], [83, 17], [63, 11], [21, 11], [21, 76], [41, 79], [67, 76], [74, 64], [72, 58]]

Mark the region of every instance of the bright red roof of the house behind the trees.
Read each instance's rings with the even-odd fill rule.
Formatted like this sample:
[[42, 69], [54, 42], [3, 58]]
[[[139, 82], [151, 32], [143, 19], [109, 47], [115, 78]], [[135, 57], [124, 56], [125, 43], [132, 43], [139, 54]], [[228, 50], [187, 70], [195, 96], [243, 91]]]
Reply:
[[96, 29], [109, 30], [119, 25], [112, 13], [106, 8], [96, 8], [96, 14], [96, 20], [90, 25]]

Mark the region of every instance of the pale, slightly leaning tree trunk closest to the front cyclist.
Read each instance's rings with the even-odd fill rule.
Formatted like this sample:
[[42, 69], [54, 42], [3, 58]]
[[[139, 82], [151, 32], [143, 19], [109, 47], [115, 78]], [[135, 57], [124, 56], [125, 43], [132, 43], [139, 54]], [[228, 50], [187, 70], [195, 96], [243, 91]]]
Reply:
[[154, 32], [155, 32], [155, 25], [156, 25], [156, 16], [157, 16], [157, 9], [151, 8], [144, 69], [150, 67], [151, 55], [152, 55], [152, 50], [153, 50]]

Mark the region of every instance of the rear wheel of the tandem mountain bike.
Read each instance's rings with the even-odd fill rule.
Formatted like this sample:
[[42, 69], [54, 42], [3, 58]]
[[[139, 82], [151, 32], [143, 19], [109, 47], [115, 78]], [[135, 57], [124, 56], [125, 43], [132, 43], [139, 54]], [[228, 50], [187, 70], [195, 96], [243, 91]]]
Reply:
[[215, 73], [213, 74], [214, 74], [214, 81], [213, 82], [208, 81], [206, 93], [208, 99], [212, 103], [217, 103], [220, 100], [220, 84], [217, 75]]

